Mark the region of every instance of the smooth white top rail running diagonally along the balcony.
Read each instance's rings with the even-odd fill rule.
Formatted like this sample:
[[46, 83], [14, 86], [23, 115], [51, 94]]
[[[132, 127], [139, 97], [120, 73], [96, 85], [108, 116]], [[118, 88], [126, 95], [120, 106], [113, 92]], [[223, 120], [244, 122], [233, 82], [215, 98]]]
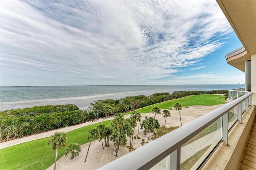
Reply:
[[236, 107], [239, 103], [252, 95], [252, 92], [234, 100], [230, 103], [187, 123], [186, 125], [153, 140], [152, 142], [114, 160], [100, 170], [131, 170], [150, 169], [166, 156], [180, 148], [182, 144], [190, 140], [196, 134], [204, 130], [214, 121], [225, 115], [228, 111]]

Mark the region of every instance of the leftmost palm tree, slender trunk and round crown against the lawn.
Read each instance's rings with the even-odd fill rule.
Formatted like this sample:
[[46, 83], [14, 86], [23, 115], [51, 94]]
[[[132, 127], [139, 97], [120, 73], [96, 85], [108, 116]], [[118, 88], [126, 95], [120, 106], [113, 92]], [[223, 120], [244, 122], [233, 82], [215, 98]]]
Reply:
[[61, 147], [66, 146], [66, 133], [64, 132], [55, 132], [52, 134], [51, 140], [48, 141], [48, 145], [52, 144], [52, 150], [56, 150], [55, 155], [55, 164], [54, 164], [54, 170], [56, 170], [56, 162], [57, 162], [57, 156], [58, 156], [58, 149]]

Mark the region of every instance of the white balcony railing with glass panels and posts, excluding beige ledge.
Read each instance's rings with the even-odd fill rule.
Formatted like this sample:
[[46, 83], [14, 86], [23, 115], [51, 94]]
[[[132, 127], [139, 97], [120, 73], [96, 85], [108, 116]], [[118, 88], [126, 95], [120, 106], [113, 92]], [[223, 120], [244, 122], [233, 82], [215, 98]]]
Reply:
[[[239, 96], [239, 95], [238, 95]], [[152, 142], [106, 164], [100, 170], [168, 169], [179, 170], [194, 160], [199, 169], [221, 142], [228, 144], [228, 132], [242, 121], [242, 114], [252, 105], [252, 92], [153, 140]], [[193, 161], [192, 161], [193, 162]]]

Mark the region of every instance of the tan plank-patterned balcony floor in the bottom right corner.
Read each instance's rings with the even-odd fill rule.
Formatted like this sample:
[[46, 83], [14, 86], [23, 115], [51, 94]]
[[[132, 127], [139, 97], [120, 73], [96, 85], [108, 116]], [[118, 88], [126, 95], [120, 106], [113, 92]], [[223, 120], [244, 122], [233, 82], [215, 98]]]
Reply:
[[256, 170], [256, 121], [250, 132], [240, 163], [240, 170]]

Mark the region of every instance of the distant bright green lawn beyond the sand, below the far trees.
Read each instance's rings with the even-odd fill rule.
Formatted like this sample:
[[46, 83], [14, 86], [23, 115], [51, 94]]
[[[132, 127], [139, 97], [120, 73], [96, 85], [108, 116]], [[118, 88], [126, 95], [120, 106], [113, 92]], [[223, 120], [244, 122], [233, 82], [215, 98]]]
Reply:
[[[160, 109], [172, 109], [175, 103], [180, 103], [182, 107], [188, 107], [192, 105], [203, 105], [203, 106], [213, 106], [225, 104], [225, 97], [220, 95], [192, 95], [180, 99], [173, 99], [170, 101], [165, 101], [162, 103], [158, 103], [156, 105], [151, 105], [148, 107], [144, 107], [142, 109], [138, 109], [140, 113], [150, 113], [154, 107], [159, 107]], [[126, 114], [130, 114], [126, 113]]]

